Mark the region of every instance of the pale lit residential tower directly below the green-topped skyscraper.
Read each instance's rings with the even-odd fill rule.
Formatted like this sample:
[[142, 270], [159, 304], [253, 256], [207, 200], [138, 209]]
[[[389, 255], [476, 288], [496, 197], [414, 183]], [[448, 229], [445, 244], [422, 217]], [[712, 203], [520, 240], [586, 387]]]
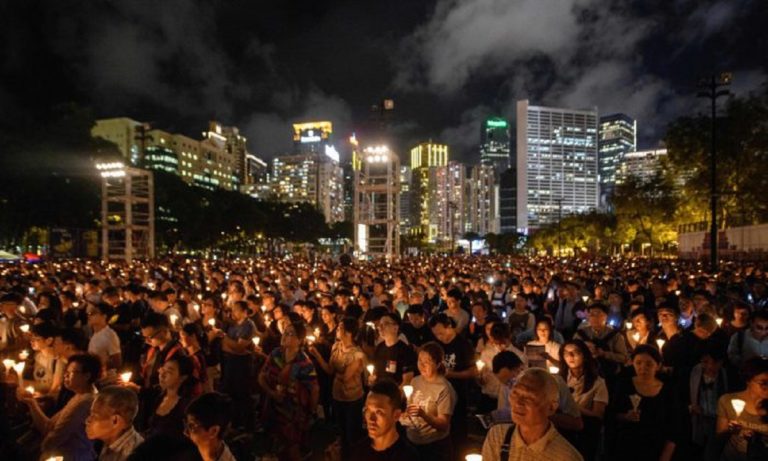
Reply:
[[475, 165], [468, 180], [468, 229], [480, 235], [499, 233], [499, 184], [493, 165]]

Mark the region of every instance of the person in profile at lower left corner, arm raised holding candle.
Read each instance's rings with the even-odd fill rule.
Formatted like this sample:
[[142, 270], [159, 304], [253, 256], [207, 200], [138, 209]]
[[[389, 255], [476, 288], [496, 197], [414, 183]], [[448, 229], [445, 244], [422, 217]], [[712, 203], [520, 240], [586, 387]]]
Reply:
[[27, 405], [32, 425], [43, 436], [41, 458], [63, 456], [67, 461], [96, 459], [93, 443], [85, 434], [85, 420], [95, 396], [94, 384], [101, 374], [101, 361], [91, 354], [70, 357], [64, 386], [74, 393], [66, 406], [50, 418], [32, 394], [19, 390], [19, 400]]

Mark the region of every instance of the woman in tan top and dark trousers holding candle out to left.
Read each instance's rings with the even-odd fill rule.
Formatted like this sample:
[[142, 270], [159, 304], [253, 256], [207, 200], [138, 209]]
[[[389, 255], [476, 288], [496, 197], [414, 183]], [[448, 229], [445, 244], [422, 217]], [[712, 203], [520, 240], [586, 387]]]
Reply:
[[348, 454], [349, 448], [363, 435], [362, 372], [365, 354], [355, 343], [357, 332], [357, 319], [344, 317], [336, 328], [336, 342], [333, 344], [328, 361], [315, 345], [310, 345], [308, 348], [316, 363], [333, 377], [331, 386], [333, 416], [341, 430], [344, 454]]

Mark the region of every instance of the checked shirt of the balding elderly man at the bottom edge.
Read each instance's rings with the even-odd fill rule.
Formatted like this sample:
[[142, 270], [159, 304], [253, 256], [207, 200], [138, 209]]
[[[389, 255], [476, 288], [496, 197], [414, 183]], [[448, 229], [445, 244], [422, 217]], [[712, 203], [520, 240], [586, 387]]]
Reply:
[[[483, 461], [507, 461], [501, 459], [501, 446], [510, 424], [497, 424], [488, 431], [483, 443]], [[539, 440], [528, 445], [520, 436], [519, 428], [513, 429], [509, 447], [509, 461], [583, 461], [579, 452], [557, 432], [553, 424]]]

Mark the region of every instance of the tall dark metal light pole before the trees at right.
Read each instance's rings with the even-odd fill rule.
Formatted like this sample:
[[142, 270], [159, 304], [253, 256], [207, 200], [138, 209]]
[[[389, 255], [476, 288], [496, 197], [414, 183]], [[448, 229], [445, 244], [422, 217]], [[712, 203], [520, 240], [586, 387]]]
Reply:
[[723, 72], [719, 75], [712, 74], [709, 78], [702, 79], [699, 82], [701, 91], [698, 97], [708, 98], [712, 109], [712, 145], [710, 147], [710, 214], [709, 225], [709, 258], [712, 272], [717, 271], [717, 98], [730, 94], [728, 90], [721, 87], [731, 84], [732, 75], [730, 72]]

